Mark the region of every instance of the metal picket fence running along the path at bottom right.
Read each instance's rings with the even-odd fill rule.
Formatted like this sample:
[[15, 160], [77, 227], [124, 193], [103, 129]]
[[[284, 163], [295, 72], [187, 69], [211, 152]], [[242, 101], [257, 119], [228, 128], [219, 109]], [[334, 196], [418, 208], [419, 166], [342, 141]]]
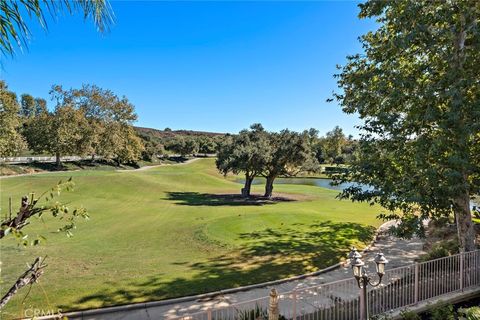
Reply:
[[[386, 270], [382, 284], [368, 289], [369, 314], [403, 309], [472, 288], [480, 290], [480, 250]], [[352, 277], [175, 319], [358, 320], [361, 299], [361, 290]]]

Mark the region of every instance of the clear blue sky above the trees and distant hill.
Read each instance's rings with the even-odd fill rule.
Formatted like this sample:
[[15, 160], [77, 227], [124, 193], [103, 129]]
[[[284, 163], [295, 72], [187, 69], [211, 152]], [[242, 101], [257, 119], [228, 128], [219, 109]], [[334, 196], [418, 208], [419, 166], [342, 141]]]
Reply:
[[105, 35], [80, 15], [36, 24], [27, 52], [4, 58], [18, 94], [48, 98], [52, 84], [97, 84], [127, 96], [139, 126], [237, 132], [340, 125], [358, 119], [327, 103], [333, 74], [357, 37], [375, 28], [356, 2], [111, 2]]

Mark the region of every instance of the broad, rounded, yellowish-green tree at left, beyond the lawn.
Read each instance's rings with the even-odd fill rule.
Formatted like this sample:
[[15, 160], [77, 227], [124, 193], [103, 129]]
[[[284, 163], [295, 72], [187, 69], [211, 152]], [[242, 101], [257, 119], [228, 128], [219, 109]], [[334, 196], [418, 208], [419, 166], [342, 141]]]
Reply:
[[62, 155], [98, 155], [118, 164], [140, 158], [144, 146], [132, 126], [137, 115], [126, 97], [94, 85], [69, 90], [54, 85], [50, 94], [54, 111], [48, 112], [45, 100], [28, 98], [34, 108], [26, 110], [35, 110], [34, 116], [22, 112], [23, 133], [34, 152], [56, 155], [57, 165]]

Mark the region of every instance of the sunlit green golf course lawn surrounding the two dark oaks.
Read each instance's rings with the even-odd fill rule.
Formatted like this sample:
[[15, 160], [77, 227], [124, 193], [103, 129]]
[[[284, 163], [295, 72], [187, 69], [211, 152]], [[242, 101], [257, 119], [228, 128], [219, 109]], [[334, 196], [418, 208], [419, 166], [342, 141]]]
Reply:
[[[42, 192], [72, 176], [74, 192], [61, 196], [84, 206], [73, 238], [53, 232], [57, 221], [33, 221], [31, 236], [48, 241], [1, 247], [2, 289], [27, 262], [47, 255], [48, 268], [22, 307], [23, 289], [4, 316], [22, 308], [63, 311], [204, 293], [311, 272], [363, 246], [380, 221], [377, 207], [335, 199], [336, 191], [277, 185], [282, 201], [242, 201], [241, 185], [216, 172], [213, 159], [145, 171], [83, 170], [0, 180], [1, 208], [8, 196]], [[261, 193], [262, 186], [254, 192]]]

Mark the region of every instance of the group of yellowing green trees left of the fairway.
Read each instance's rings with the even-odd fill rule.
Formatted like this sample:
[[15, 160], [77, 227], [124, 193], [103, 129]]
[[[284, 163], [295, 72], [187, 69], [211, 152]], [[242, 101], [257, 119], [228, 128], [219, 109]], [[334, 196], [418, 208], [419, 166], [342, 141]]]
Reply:
[[17, 155], [25, 149], [55, 155], [60, 166], [64, 155], [90, 155], [135, 162], [144, 150], [132, 123], [135, 107], [126, 97], [94, 85], [50, 91], [55, 107], [44, 99], [22, 94], [20, 99], [0, 81], [0, 156]]

